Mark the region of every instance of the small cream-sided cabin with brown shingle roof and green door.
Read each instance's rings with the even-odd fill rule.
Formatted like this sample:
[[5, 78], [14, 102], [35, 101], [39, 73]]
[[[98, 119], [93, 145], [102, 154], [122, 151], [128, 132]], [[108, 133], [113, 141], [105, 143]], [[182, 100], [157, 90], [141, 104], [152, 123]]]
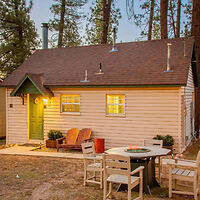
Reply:
[[44, 142], [50, 129], [91, 128], [106, 148], [194, 133], [194, 40], [37, 50], [3, 82], [7, 143]]

